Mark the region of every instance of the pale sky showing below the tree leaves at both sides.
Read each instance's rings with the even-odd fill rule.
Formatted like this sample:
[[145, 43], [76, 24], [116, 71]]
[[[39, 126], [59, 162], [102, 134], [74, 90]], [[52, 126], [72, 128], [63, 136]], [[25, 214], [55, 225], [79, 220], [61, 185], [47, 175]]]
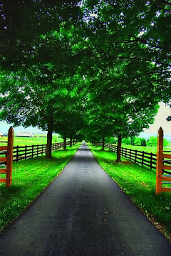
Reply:
[[[144, 129], [144, 132], [141, 132], [140, 137], [143, 137], [143, 135], [145, 135], [147, 137], [147, 135], [153, 135], [153, 136], [157, 136], [157, 132], [158, 129], [160, 127], [162, 127], [164, 134], [168, 134], [171, 135], [171, 121], [167, 122], [166, 118], [168, 116], [171, 115], [171, 109], [169, 106], [165, 106], [164, 103], [160, 102], [160, 109], [157, 113], [157, 115], [155, 116], [155, 122], [154, 124], [150, 125], [149, 129]], [[0, 122], [0, 132], [4, 132], [7, 133], [9, 127], [12, 124], [6, 124], [6, 122]], [[33, 133], [46, 133], [46, 132], [42, 132], [40, 129], [37, 128], [33, 128], [33, 127], [28, 127], [26, 129], [24, 129], [23, 127], [14, 127], [14, 132], [33, 132]]]

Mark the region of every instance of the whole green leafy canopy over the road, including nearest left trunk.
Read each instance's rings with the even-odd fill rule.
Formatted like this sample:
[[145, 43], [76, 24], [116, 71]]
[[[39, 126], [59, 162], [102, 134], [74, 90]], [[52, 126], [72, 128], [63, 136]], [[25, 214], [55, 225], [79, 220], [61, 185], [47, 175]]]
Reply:
[[[134, 137], [170, 104], [170, 1], [1, 1], [0, 119]], [[168, 118], [170, 119], [170, 118]], [[139, 142], [138, 142], [139, 143]]]

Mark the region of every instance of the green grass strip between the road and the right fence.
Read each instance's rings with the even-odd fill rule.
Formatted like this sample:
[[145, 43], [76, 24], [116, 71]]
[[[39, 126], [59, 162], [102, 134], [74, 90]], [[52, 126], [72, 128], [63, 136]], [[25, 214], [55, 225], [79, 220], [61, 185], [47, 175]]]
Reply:
[[108, 149], [102, 152], [100, 147], [89, 147], [105, 172], [171, 242], [171, 193], [155, 195], [155, 170], [128, 161], [116, 163], [116, 154]]

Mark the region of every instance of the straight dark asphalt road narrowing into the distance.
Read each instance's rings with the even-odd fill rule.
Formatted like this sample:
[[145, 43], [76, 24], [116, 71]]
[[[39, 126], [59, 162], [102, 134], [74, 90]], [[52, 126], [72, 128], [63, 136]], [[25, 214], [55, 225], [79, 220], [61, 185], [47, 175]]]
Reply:
[[0, 256], [171, 256], [171, 244], [82, 144], [0, 236]]

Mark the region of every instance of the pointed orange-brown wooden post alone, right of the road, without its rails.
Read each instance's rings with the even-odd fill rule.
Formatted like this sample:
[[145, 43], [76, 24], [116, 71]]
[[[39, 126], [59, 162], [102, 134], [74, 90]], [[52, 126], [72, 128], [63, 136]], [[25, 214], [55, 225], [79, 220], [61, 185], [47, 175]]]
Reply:
[[160, 193], [162, 187], [162, 154], [163, 154], [163, 130], [158, 130], [157, 138], [157, 164], [156, 164], [156, 194]]

